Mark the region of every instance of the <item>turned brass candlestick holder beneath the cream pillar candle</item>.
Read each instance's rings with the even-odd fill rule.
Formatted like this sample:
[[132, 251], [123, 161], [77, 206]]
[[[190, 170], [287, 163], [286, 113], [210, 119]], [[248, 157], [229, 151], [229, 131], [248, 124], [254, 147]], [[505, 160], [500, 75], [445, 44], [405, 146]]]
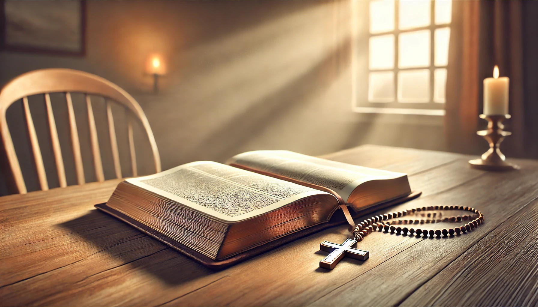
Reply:
[[477, 131], [476, 134], [484, 137], [490, 143], [490, 149], [482, 155], [480, 159], [469, 160], [471, 168], [482, 170], [504, 171], [519, 169], [518, 165], [513, 165], [505, 161], [505, 155], [501, 153], [499, 145], [504, 137], [512, 134], [512, 132], [502, 130], [504, 125], [502, 120], [508, 119], [511, 116], [506, 115], [485, 115], [480, 114], [480, 118], [487, 120], [487, 130]]

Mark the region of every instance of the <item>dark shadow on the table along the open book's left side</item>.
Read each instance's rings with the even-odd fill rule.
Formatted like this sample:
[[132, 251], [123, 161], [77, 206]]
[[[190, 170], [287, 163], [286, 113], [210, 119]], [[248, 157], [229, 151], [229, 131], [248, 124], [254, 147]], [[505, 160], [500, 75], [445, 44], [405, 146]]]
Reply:
[[[106, 253], [121, 259], [123, 263], [116, 267], [129, 265], [130, 268], [144, 270], [167, 284], [177, 285], [215, 273], [97, 209], [59, 226], [96, 246], [98, 252], [95, 254]], [[103, 271], [114, 268], [103, 265]]]

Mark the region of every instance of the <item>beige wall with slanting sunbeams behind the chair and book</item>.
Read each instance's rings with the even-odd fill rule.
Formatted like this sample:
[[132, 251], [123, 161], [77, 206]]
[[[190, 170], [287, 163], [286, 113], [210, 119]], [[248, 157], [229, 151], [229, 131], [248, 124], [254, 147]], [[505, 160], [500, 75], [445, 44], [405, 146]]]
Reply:
[[[66, 67], [117, 83], [146, 112], [164, 169], [253, 149], [443, 149], [440, 118], [351, 112], [350, 18], [349, 2], [87, 1], [86, 56], [1, 52], [0, 82]], [[159, 94], [143, 74], [152, 52], [167, 60]]]

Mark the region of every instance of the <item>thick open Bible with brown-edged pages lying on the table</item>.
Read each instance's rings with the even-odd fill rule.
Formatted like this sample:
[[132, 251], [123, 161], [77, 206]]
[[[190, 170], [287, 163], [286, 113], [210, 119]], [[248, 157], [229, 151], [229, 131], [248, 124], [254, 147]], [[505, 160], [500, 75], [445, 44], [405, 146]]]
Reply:
[[220, 267], [334, 224], [341, 204], [358, 213], [412, 194], [406, 174], [289, 151], [246, 152], [227, 164], [198, 161], [126, 179], [96, 206]]

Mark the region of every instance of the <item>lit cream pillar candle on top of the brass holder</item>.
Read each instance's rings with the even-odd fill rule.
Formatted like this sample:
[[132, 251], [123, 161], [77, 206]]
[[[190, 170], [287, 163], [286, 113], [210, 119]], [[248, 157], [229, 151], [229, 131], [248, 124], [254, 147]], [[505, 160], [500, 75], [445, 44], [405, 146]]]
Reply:
[[510, 79], [499, 77], [499, 67], [493, 68], [493, 78], [484, 79], [484, 114], [508, 114], [508, 87]]

